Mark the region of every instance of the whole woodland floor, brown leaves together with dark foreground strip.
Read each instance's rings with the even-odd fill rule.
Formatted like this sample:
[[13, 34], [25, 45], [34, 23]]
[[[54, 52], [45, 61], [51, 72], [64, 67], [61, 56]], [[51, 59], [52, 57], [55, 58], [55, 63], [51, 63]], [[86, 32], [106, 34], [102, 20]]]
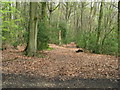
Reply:
[[44, 57], [26, 57], [22, 48], [2, 51], [3, 88], [118, 88], [118, 59], [49, 45]]

